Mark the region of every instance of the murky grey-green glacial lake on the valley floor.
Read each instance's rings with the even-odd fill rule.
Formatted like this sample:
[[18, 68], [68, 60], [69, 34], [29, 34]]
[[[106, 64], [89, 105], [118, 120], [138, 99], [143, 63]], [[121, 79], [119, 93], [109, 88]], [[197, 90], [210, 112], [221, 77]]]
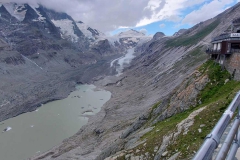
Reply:
[[[17, 117], [3, 121], [4, 125], [0, 126], [0, 130], [5, 130], [5, 128], [8, 127], [11, 127], [13, 130], [9, 130], [7, 131], [7, 133], [3, 132], [3, 134], [0, 134], [0, 141], [2, 144], [4, 144], [2, 146], [4, 148], [2, 148], [1, 150], [4, 151], [4, 149], [8, 149], [12, 151], [17, 151], [14, 152], [13, 155], [9, 153], [6, 154], [10, 157], [22, 153], [25, 154], [25, 152], [30, 152], [31, 154], [39, 151], [39, 154], [42, 154], [46, 150], [49, 150], [54, 146], [58, 146], [63, 141], [65, 141], [65, 139], [68, 139], [69, 137], [77, 134], [77, 132], [88, 123], [90, 117], [96, 115], [99, 111], [101, 111], [101, 108], [107, 101], [109, 101], [110, 98], [111, 93], [109, 91], [100, 89], [93, 84], [77, 85], [75, 91], [71, 92], [65, 99], [57, 99], [55, 101], [47, 102], [44, 105], [40, 105], [36, 110], [33, 110], [35, 112], [28, 112], [26, 114], [21, 114]], [[41, 129], [41, 132], [36, 132], [36, 130], [38, 131], [39, 129]], [[62, 129], [64, 130], [61, 131]], [[36, 133], [33, 134], [34, 132]], [[55, 132], [62, 133], [56, 135]], [[9, 136], [11, 137], [14, 134], [16, 134], [16, 136], [14, 136], [13, 139], [10, 140]], [[63, 139], [61, 138], [61, 135], [64, 135]], [[41, 136], [42, 138], [39, 139], [41, 140], [41, 142], [38, 143], [38, 138], [33, 138], [34, 136]], [[54, 136], [53, 139], [56, 139], [56, 137], [58, 137], [58, 143], [54, 143], [55, 140], [53, 140], [54, 142], [51, 142], [51, 140], [49, 141], [48, 139], [51, 136]], [[35, 152], [32, 151], [32, 149], [30, 148], [30, 150], [28, 150], [28, 145], [26, 145], [28, 144], [28, 137], [33, 140], [31, 140], [31, 142], [29, 143], [35, 146], [33, 147], [33, 149], [36, 150]], [[8, 144], [8, 141], [4, 139], [9, 139], [8, 141], [11, 142], [11, 144]], [[48, 142], [46, 144], [47, 146], [45, 146], [45, 142], [43, 143], [43, 141]], [[18, 142], [18, 145], [16, 145], [16, 147], [15, 145], [13, 145], [15, 144], [15, 142]], [[20, 149], [19, 144], [23, 146], [26, 145], [26, 147], [23, 147], [24, 149]], [[49, 148], [49, 144], [53, 144], [53, 146]], [[12, 149], [10, 149], [9, 147], [12, 147]], [[7, 153], [7, 151], [5, 151], [5, 153]], [[4, 158], [4, 154], [2, 155], [2, 158]], [[9, 159], [9, 157], [7, 159]]]

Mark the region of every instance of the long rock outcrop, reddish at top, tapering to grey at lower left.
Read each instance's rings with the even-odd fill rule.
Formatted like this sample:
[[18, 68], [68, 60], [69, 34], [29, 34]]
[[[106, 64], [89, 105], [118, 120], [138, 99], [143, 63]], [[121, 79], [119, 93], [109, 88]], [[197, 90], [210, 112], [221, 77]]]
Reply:
[[[170, 94], [170, 98], [166, 98], [158, 106], [155, 106], [152, 110], [148, 110], [145, 114], [141, 115], [122, 133], [120, 138], [125, 139], [131, 134], [134, 136], [135, 131], [149, 121], [155, 124], [177, 113], [183, 112], [190, 107], [196, 106], [197, 103], [200, 103], [197, 102], [197, 96], [208, 81], [207, 75], [202, 75], [198, 70], [194, 71]], [[132, 139], [132, 137], [130, 139]]]

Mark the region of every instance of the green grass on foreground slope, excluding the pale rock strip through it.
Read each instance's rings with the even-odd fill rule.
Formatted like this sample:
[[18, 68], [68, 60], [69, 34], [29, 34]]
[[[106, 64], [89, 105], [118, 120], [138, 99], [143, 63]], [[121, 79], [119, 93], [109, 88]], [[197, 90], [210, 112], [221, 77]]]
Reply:
[[[204, 138], [213, 129], [236, 92], [240, 90], [240, 82], [231, 80], [231, 75], [225, 70], [222, 71], [221, 67], [213, 61], [204, 63], [199, 68], [199, 71], [202, 74], [208, 74], [210, 78], [210, 82], [198, 95], [197, 99], [201, 101], [201, 104], [155, 124], [155, 128], [142, 137], [142, 140], [146, 140], [146, 144], [139, 145], [134, 149], [135, 151], [137, 149], [140, 150], [136, 155], [143, 155], [149, 152], [151, 158], [153, 158], [153, 154], [155, 154], [154, 147], [161, 146], [164, 135], [175, 131], [176, 125], [186, 119], [194, 110], [207, 106], [205, 110], [195, 117], [194, 125], [189, 128], [188, 134], [180, 134], [178, 139], [167, 148], [168, 156], [181, 152], [179, 159], [192, 157], [198, 150]], [[229, 81], [225, 84], [226, 79], [229, 79]], [[152, 108], [156, 108], [156, 105]], [[199, 133], [198, 129], [201, 124], [205, 126], [201, 128], [202, 132]], [[123, 157], [121, 158], [124, 159]]]

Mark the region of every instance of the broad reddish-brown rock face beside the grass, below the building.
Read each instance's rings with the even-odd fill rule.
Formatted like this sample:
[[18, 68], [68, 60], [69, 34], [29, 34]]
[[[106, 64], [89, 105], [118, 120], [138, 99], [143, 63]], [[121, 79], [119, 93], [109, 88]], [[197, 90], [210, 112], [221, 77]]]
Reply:
[[[169, 103], [162, 106], [161, 109], [153, 111], [154, 115], [159, 115], [154, 121], [164, 120], [177, 113], [183, 112], [190, 107], [194, 107], [201, 103], [201, 100], [197, 102], [197, 95], [209, 82], [209, 78], [205, 74], [201, 74], [199, 71], [193, 72], [177, 89], [175, 89], [168, 99]], [[163, 110], [163, 108], [165, 108]]]

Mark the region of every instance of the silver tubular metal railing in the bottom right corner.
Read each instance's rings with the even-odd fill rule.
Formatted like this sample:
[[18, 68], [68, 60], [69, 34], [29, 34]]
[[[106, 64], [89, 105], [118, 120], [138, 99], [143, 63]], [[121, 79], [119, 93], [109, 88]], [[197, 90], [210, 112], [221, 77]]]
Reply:
[[[240, 124], [240, 91], [236, 94], [222, 117], [213, 128], [212, 132], [206, 137], [201, 148], [196, 153], [193, 160], [210, 160], [213, 157], [214, 150], [218, 147], [220, 139], [230, 123], [234, 112], [238, 108], [238, 114], [233, 122], [233, 125], [222, 144], [220, 151], [216, 156], [216, 160], [232, 160], [240, 145], [240, 131], [238, 132]], [[231, 147], [232, 146], [232, 147]], [[230, 149], [231, 147], [231, 149]]]

